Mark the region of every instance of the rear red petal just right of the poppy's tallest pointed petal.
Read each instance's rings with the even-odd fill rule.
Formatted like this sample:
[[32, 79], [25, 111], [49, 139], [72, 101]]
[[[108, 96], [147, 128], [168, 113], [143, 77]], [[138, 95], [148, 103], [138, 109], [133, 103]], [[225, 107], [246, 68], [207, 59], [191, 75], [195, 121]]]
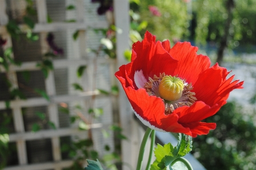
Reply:
[[171, 57], [179, 61], [172, 76], [178, 75], [194, 85], [199, 74], [210, 67], [209, 57], [197, 55], [198, 48], [193, 47], [189, 42], [178, 42], [173, 48], [170, 48], [169, 41], [163, 42], [162, 45]]

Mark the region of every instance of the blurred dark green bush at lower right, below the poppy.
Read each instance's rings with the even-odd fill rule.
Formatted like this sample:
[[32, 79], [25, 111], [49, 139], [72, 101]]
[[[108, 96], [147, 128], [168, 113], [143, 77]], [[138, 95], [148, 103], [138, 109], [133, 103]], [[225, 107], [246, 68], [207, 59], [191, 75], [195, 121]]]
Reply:
[[253, 116], [229, 102], [205, 122], [217, 122], [208, 135], [193, 139], [193, 154], [207, 170], [255, 169], [256, 127]]

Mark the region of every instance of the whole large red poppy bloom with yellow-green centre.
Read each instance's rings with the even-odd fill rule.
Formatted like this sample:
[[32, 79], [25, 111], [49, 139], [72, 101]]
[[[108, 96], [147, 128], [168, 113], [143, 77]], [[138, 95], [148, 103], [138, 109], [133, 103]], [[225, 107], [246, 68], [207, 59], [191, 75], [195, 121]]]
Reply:
[[[155, 42], [148, 31], [142, 42], [133, 44], [131, 63], [122, 65], [115, 76], [146, 126], [193, 137], [216, 127], [201, 121], [217, 113], [243, 81], [231, 82], [234, 75], [226, 79], [226, 68], [218, 63], [210, 67], [209, 57], [197, 55], [197, 50], [188, 42], [170, 48], [168, 40]], [[162, 81], [170, 85], [167, 91], [161, 92]], [[173, 95], [167, 94], [171, 88], [179, 92], [178, 99], [168, 98]]]

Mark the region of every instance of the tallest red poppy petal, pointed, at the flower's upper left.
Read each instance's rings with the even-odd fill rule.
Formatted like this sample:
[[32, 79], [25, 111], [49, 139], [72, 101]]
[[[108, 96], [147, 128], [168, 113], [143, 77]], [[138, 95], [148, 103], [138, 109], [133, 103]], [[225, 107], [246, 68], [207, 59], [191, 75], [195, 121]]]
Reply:
[[144, 77], [154, 77], [154, 74], [159, 76], [165, 72], [171, 74], [177, 65], [177, 60], [174, 60], [168, 52], [162, 47], [161, 42], [155, 42], [155, 36], [148, 31], [142, 42], [133, 44], [133, 55], [131, 59], [131, 70], [127, 75], [134, 82], [135, 71], [143, 71]]

